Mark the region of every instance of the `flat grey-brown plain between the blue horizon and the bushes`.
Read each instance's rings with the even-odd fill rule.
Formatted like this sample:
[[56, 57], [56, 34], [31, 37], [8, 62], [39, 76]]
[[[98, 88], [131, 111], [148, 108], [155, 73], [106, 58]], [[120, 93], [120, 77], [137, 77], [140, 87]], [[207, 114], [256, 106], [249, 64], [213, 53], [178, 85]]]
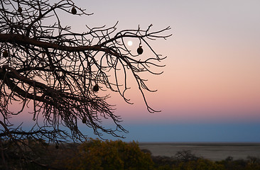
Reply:
[[221, 161], [227, 157], [247, 159], [260, 158], [260, 143], [149, 143], [140, 142], [141, 149], [148, 149], [153, 156], [174, 157], [178, 151], [190, 150], [197, 157]]

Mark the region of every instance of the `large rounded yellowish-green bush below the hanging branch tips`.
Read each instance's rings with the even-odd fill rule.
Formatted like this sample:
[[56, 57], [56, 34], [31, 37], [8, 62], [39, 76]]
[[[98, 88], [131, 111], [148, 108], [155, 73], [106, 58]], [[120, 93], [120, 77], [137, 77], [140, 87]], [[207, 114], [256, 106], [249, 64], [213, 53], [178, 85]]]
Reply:
[[141, 152], [136, 142], [93, 140], [80, 145], [79, 152], [67, 160], [67, 169], [147, 170], [152, 169], [151, 154]]

